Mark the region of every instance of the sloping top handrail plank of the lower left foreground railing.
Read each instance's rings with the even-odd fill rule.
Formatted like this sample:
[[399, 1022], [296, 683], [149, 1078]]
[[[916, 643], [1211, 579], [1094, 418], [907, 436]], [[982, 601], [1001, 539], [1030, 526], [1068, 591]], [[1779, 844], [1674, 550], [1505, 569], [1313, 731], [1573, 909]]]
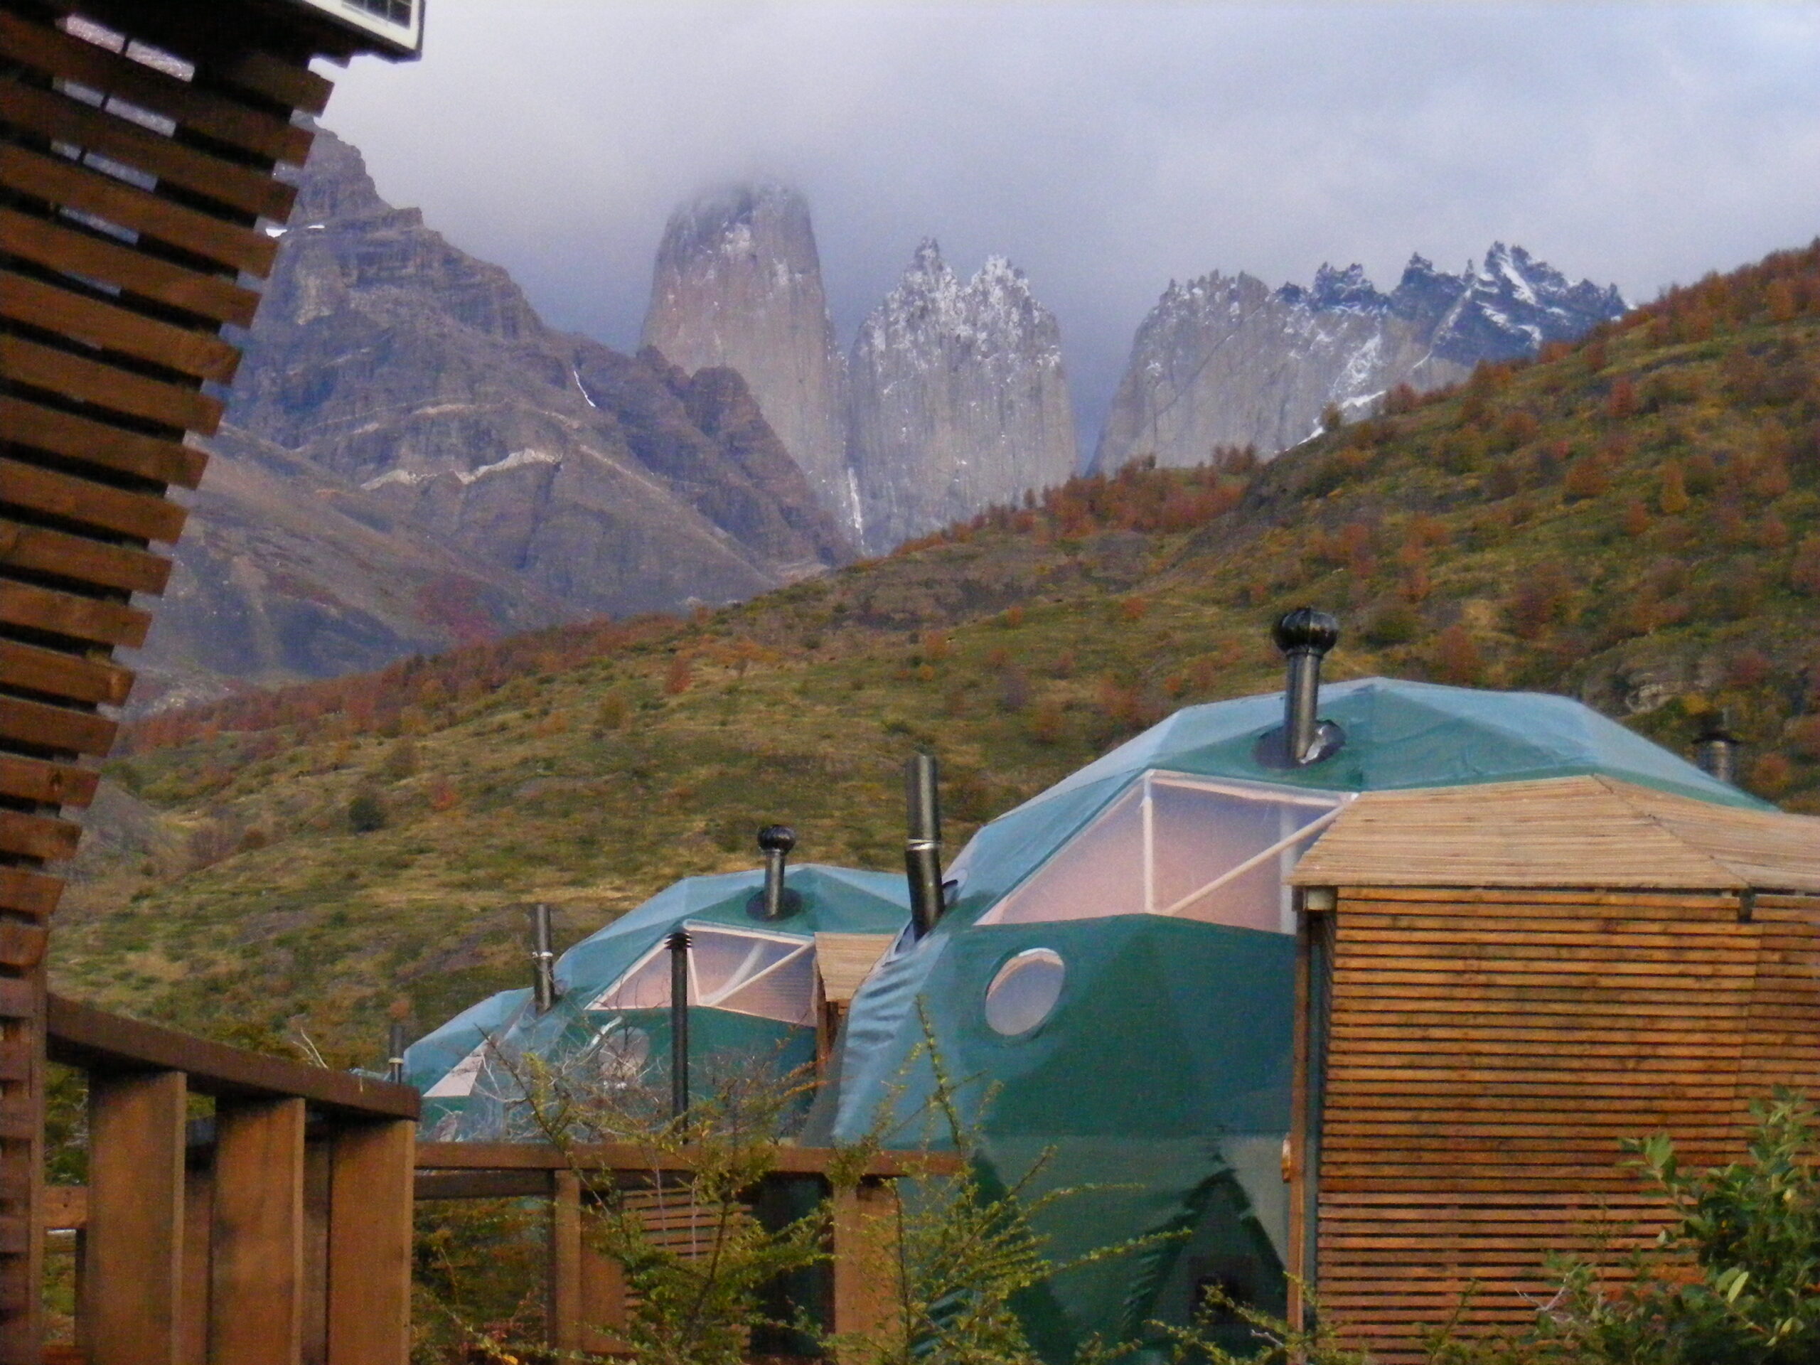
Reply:
[[231, 1048], [62, 996], [49, 997], [47, 1046], [51, 1061], [89, 1072], [180, 1070], [191, 1090], [218, 1097], [298, 1096], [337, 1114], [373, 1119], [419, 1114], [417, 1090], [408, 1085]]

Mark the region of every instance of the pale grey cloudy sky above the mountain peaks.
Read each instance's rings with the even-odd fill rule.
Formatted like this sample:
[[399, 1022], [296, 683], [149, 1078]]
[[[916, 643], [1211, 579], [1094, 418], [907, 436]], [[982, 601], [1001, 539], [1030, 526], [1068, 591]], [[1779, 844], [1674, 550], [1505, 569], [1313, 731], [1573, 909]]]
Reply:
[[1820, 235], [1820, 0], [428, 0], [326, 124], [557, 328], [637, 344], [664, 218], [810, 200], [841, 344], [935, 237], [1057, 315], [1092, 451], [1172, 278], [1494, 240], [1633, 302]]

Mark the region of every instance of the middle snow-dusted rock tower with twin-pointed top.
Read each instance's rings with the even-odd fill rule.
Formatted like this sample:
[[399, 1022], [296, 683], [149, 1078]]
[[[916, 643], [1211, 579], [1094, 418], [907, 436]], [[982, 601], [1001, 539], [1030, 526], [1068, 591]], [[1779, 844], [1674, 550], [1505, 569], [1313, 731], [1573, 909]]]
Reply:
[[848, 386], [870, 551], [1074, 473], [1061, 333], [1003, 258], [963, 284], [923, 242], [861, 326]]

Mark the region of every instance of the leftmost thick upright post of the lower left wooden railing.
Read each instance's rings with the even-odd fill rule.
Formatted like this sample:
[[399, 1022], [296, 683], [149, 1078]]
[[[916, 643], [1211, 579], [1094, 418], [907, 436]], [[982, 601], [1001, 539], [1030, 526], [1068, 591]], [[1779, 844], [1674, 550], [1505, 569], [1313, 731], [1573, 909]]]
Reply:
[[93, 1365], [175, 1365], [184, 1267], [182, 1072], [89, 1077], [82, 1343]]

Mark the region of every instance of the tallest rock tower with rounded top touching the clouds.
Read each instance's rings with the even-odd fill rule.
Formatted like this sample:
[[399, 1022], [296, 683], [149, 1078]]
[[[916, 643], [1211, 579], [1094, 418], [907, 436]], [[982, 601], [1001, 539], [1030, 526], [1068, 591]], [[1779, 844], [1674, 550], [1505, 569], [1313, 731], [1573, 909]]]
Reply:
[[644, 346], [688, 373], [743, 375], [823, 508], [857, 539], [841, 353], [803, 195], [735, 186], [679, 207], [657, 251]]

